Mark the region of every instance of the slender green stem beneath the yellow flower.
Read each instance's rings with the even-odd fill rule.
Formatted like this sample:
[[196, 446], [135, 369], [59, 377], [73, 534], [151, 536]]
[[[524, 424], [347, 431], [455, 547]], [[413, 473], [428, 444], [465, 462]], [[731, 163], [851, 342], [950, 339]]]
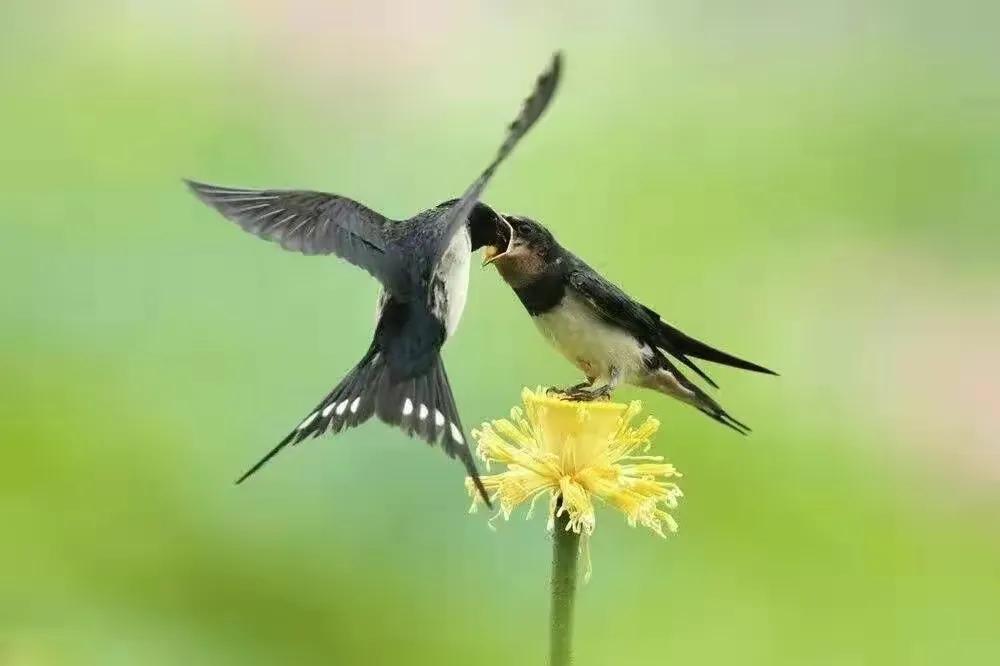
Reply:
[[[559, 502], [561, 506], [562, 502]], [[558, 512], [558, 508], [557, 508]], [[552, 533], [552, 615], [549, 627], [549, 666], [572, 663], [573, 604], [576, 598], [580, 535], [566, 529], [569, 514], [556, 516]]]

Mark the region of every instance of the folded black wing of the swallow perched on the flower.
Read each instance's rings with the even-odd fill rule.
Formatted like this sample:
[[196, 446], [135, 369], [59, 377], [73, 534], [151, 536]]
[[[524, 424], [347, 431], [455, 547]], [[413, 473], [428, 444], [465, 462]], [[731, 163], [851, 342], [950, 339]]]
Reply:
[[605, 280], [581, 260], [572, 257], [570, 263], [570, 284], [590, 301], [605, 321], [620, 326], [636, 338], [667, 352], [712, 386], [718, 388], [718, 384], [695, 365], [689, 356], [742, 370], [777, 374], [773, 370], [744, 361], [685, 335], [664, 322], [655, 311], [636, 302], [617, 286]]

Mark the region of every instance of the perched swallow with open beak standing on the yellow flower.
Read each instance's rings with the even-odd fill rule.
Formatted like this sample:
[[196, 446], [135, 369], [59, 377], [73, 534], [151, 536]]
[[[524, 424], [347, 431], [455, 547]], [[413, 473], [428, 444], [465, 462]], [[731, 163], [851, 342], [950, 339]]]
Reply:
[[496, 267], [535, 326], [586, 381], [551, 389], [571, 400], [609, 398], [622, 384], [648, 388], [687, 403], [746, 435], [750, 428], [684, 376], [675, 363], [718, 385], [692, 359], [777, 375], [692, 338], [629, 296], [562, 247], [542, 224], [503, 215], [500, 245], [484, 248], [483, 265]]

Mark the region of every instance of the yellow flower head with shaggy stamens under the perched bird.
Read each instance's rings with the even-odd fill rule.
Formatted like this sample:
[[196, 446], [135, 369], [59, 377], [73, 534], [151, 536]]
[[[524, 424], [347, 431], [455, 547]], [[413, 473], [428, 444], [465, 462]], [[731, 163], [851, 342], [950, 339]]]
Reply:
[[[509, 520], [519, 504], [534, 507], [548, 493], [549, 529], [558, 510], [568, 514], [567, 529], [592, 534], [596, 497], [621, 510], [633, 527], [642, 525], [660, 536], [665, 529], [677, 530], [666, 510], [677, 506], [682, 493], [665, 479], [680, 473], [661, 456], [633, 455], [649, 449], [660, 427], [652, 417], [638, 428], [631, 426], [642, 409], [639, 401], [571, 402], [548, 396], [541, 388], [524, 389], [521, 399], [524, 410], [515, 407], [509, 420], [484, 423], [472, 431], [487, 470], [491, 463], [506, 465], [499, 474], [482, 477], [490, 499], [500, 505], [494, 519], [503, 515]], [[481, 500], [471, 479], [465, 485], [472, 497], [470, 511], [475, 511]]]

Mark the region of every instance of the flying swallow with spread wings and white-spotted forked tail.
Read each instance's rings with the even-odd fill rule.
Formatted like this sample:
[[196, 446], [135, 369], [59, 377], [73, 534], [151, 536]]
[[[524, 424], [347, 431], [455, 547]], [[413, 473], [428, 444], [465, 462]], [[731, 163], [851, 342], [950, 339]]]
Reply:
[[353, 428], [375, 416], [457, 457], [486, 499], [441, 347], [455, 333], [465, 308], [472, 252], [497, 242], [498, 230], [505, 230], [505, 221], [479, 197], [548, 107], [561, 71], [557, 52], [507, 128], [495, 157], [461, 197], [409, 219], [392, 220], [353, 199], [325, 192], [186, 181], [195, 196], [244, 231], [286, 250], [335, 255], [381, 285], [375, 331], [361, 359], [237, 484], [289, 444]]

